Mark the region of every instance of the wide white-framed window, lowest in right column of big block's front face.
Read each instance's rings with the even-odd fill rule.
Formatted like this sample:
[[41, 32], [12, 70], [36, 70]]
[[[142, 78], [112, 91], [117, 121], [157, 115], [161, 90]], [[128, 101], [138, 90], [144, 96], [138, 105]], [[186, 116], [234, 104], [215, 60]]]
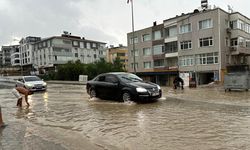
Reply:
[[196, 55], [196, 64], [198, 65], [218, 64], [218, 52]]

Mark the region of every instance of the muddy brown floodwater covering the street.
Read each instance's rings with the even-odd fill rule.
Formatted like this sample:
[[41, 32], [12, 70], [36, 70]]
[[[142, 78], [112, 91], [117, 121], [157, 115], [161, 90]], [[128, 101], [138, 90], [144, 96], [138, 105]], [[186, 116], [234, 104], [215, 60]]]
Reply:
[[23, 103], [19, 109], [10, 91], [0, 89], [8, 124], [0, 134], [3, 149], [80, 150], [88, 149], [87, 142], [122, 150], [250, 147], [249, 92], [164, 87], [159, 101], [136, 104], [89, 99], [83, 85], [49, 84], [46, 92], [29, 97], [29, 108]]

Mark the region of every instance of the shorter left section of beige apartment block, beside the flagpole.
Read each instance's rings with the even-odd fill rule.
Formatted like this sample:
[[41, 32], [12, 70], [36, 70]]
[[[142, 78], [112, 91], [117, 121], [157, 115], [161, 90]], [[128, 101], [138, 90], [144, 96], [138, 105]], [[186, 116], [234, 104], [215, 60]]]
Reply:
[[133, 33], [128, 33], [128, 71], [136, 72], [145, 80], [170, 85], [178, 70], [177, 64], [167, 59], [170, 57], [167, 53], [174, 50], [165, 50], [164, 31], [164, 24], [154, 22], [152, 27], [135, 31], [134, 39]]

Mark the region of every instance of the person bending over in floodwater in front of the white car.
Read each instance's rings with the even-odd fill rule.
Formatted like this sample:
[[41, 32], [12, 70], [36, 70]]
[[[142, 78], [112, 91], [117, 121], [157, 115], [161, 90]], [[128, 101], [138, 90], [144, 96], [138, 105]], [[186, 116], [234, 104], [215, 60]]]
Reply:
[[12, 90], [12, 93], [17, 98], [17, 104], [16, 104], [17, 106], [22, 107], [23, 97], [20, 94], [24, 95], [27, 106], [30, 105], [28, 102], [28, 96], [33, 94], [32, 91], [30, 91], [29, 89], [26, 89], [25, 87], [16, 87]]

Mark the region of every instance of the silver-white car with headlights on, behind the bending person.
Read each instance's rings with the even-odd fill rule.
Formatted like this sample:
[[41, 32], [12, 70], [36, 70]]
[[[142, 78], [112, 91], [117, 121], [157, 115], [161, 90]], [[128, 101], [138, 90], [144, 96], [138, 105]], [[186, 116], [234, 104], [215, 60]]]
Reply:
[[37, 76], [22, 76], [16, 82], [16, 87], [23, 86], [31, 91], [45, 91], [47, 83]]

